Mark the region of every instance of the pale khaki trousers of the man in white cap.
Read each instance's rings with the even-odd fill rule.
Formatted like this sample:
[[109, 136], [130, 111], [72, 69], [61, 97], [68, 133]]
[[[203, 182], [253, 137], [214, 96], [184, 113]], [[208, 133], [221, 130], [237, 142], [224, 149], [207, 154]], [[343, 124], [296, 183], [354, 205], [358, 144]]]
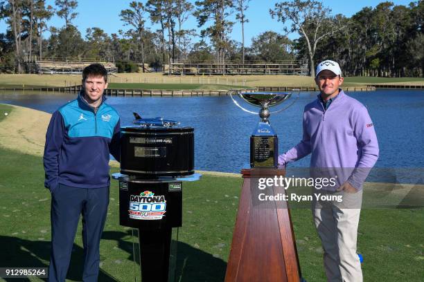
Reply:
[[[360, 259], [356, 253], [357, 226], [362, 202], [362, 191], [344, 193], [344, 203], [320, 203], [312, 205], [312, 214], [324, 249], [324, 267], [330, 282], [362, 282]], [[360, 205], [359, 205], [360, 207]]]

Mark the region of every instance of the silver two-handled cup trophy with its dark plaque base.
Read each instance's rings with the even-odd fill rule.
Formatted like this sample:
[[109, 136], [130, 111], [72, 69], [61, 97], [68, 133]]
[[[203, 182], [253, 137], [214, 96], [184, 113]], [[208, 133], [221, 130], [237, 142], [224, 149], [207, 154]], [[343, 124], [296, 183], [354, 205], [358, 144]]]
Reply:
[[[276, 111], [270, 111], [271, 107], [277, 106], [292, 97], [297, 91], [297, 98], [288, 106]], [[259, 115], [260, 121], [256, 125], [250, 137], [250, 167], [274, 168], [278, 166], [279, 139], [270, 124], [270, 115], [288, 109], [299, 98], [299, 89], [288, 92], [244, 92], [230, 91], [231, 99], [240, 109], [247, 113]], [[259, 113], [249, 111], [240, 106], [236, 99], [247, 102], [253, 106], [260, 107]]]

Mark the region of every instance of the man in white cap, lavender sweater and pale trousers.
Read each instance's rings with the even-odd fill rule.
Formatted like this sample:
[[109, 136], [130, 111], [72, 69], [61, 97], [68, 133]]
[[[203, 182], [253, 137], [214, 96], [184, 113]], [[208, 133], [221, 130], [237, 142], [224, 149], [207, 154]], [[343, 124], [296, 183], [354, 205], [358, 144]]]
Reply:
[[311, 173], [316, 177], [325, 171], [337, 179], [332, 190], [318, 193], [342, 195], [342, 203], [316, 200], [312, 214], [324, 248], [328, 281], [360, 282], [357, 226], [362, 184], [378, 159], [376, 131], [365, 106], [339, 88], [343, 83], [339, 64], [326, 60], [318, 64], [316, 73], [321, 93], [305, 106], [303, 138], [279, 156], [279, 167], [311, 153]]

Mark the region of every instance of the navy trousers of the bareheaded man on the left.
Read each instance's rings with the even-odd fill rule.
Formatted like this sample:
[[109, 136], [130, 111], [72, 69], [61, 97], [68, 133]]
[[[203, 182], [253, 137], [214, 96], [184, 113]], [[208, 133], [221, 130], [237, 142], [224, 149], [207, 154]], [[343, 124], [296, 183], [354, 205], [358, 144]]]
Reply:
[[65, 281], [73, 240], [82, 214], [82, 281], [97, 281], [100, 237], [105, 227], [109, 187], [85, 189], [59, 185], [51, 197], [51, 258], [48, 281]]

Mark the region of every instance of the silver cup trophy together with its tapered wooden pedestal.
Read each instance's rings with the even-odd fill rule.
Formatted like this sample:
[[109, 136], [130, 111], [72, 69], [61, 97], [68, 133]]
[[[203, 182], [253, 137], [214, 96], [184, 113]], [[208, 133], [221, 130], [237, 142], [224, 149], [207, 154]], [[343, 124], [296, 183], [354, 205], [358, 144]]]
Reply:
[[[233, 91], [231, 99], [243, 111], [259, 114], [260, 121], [250, 138], [250, 166], [242, 169], [243, 184], [233, 241], [225, 274], [225, 282], [275, 281], [300, 282], [301, 271], [288, 204], [285, 201], [270, 200], [261, 202], [259, 194], [269, 196], [286, 195], [285, 188], [271, 185], [268, 189], [258, 189], [260, 178], [285, 176], [284, 169], [278, 166], [278, 138], [270, 125], [271, 113], [278, 113], [292, 106], [299, 98], [283, 107], [283, 102], [292, 97], [290, 92], [247, 92]], [[249, 111], [239, 102], [247, 102], [260, 107]], [[277, 106], [280, 105], [280, 106]], [[273, 107], [276, 111], [270, 111]], [[258, 201], [259, 199], [259, 201]], [[259, 203], [260, 202], [260, 203]], [[270, 236], [272, 234], [272, 236]], [[243, 240], [240, 241], [240, 238]], [[256, 244], [256, 242], [261, 244]], [[260, 261], [267, 267], [251, 267]]]

